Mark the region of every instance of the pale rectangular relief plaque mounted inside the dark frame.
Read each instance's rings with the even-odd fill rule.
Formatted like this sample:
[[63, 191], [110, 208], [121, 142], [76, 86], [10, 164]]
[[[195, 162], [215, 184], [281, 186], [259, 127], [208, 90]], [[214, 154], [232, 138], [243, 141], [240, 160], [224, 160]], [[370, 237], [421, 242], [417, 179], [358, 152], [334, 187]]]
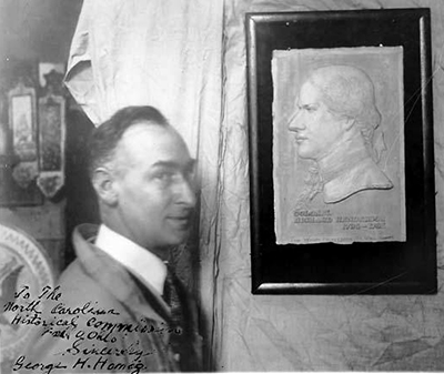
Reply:
[[405, 241], [402, 48], [274, 51], [279, 244]]

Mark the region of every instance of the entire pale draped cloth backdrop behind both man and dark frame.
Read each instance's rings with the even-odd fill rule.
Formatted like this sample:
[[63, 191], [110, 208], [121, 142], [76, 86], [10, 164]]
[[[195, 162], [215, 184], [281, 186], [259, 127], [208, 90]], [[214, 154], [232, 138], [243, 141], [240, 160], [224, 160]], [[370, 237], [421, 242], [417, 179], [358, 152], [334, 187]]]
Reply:
[[[198, 159], [198, 243], [178, 250], [174, 263], [201, 301], [206, 370], [444, 368], [443, 291], [372, 297], [250, 291], [245, 12], [416, 7], [432, 8], [433, 84], [441, 100], [434, 108], [435, 146], [442, 151], [440, 1], [84, 0], [67, 74], [73, 97], [97, 124], [127, 104], [154, 105]], [[441, 193], [443, 161], [441, 155], [436, 163]], [[437, 198], [438, 228], [443, 220]], [[440, 230], [438, 259], [442, 265]], [[199, 279], [190, 282], [191, 270]], [[438, 276], [444, 280], [442, 270]]]

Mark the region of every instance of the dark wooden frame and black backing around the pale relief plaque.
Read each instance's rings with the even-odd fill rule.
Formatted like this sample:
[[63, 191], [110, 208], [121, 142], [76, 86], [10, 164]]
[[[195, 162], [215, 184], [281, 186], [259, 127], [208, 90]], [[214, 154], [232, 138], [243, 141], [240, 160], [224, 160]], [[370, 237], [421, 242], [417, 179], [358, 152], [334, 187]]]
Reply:
[[[248, 13], [252, 292], [436, 293], [436, 229], [428, 9]], [[273, 50], [402, 46], [405, 242], [278, 245], [274, 233]]]

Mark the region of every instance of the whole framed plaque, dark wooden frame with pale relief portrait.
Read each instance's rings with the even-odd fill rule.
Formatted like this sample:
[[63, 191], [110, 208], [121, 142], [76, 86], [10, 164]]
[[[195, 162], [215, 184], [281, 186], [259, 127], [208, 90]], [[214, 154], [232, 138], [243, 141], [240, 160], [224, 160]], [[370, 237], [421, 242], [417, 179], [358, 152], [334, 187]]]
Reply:
[[430, 10], [245, 26], [253, 293], [435, 293]]

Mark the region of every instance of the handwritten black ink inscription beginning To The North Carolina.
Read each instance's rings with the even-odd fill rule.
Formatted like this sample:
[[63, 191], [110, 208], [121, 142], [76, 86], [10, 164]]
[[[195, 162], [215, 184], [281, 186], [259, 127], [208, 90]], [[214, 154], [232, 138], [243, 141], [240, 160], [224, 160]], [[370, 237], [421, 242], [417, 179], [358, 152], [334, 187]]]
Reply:
[[[140, 340], [121, 346], [115, 335], [135, 334], [142, 338], [147, 334], [181, 335], [180, 326], [171, 326], [164, 322], [149, 319], [139, 321], [115, 321], [120, 315], [114, 309], [102, 309], [98, 302], [88, 301], [82, 305], [70, 306], [63, 303], [59, 286], [44, 286], [38, 296], [31, 295], [28, 285], [13, 293], [14, 300], [3, 305], [11, 325], [39, 326], [40, 336], [62, 338], [69, 344], [62, 352], [64, 358], [36, 358], [20, 355], [12, 364], [12, 371], [51, 374], [56, 371], [124, 371], [140, 373], [145, 370], [144, 357], [159, 354], [160, 351], [143, 348]], [[43, 313], [41, 302], [53, 302], [52, 309]], [[110, 316], [112, 316], [110, 319]], [[167, 344], [161, 350], [170, 350]], [[61, 360], [61, 361], [59, 361]], [[67, 361], [65, 361], [67, 360]]]

